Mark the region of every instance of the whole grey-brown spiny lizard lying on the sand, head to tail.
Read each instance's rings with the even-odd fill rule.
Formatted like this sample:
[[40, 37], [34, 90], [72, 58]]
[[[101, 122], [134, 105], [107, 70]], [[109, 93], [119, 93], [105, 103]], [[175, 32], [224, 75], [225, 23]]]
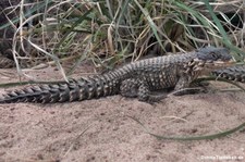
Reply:
[[188, 88], [200, 75], [230, 66], [232, 57], [226, 48], [205, 47], [187, 53], [156, 57], [132, 62], [105, 74], [71, 79], [65, 84], [26, 87], [4, 94], [0, 103], [54, 103], [81, 101], [112, 95], [158, 100], [152, 91]]

